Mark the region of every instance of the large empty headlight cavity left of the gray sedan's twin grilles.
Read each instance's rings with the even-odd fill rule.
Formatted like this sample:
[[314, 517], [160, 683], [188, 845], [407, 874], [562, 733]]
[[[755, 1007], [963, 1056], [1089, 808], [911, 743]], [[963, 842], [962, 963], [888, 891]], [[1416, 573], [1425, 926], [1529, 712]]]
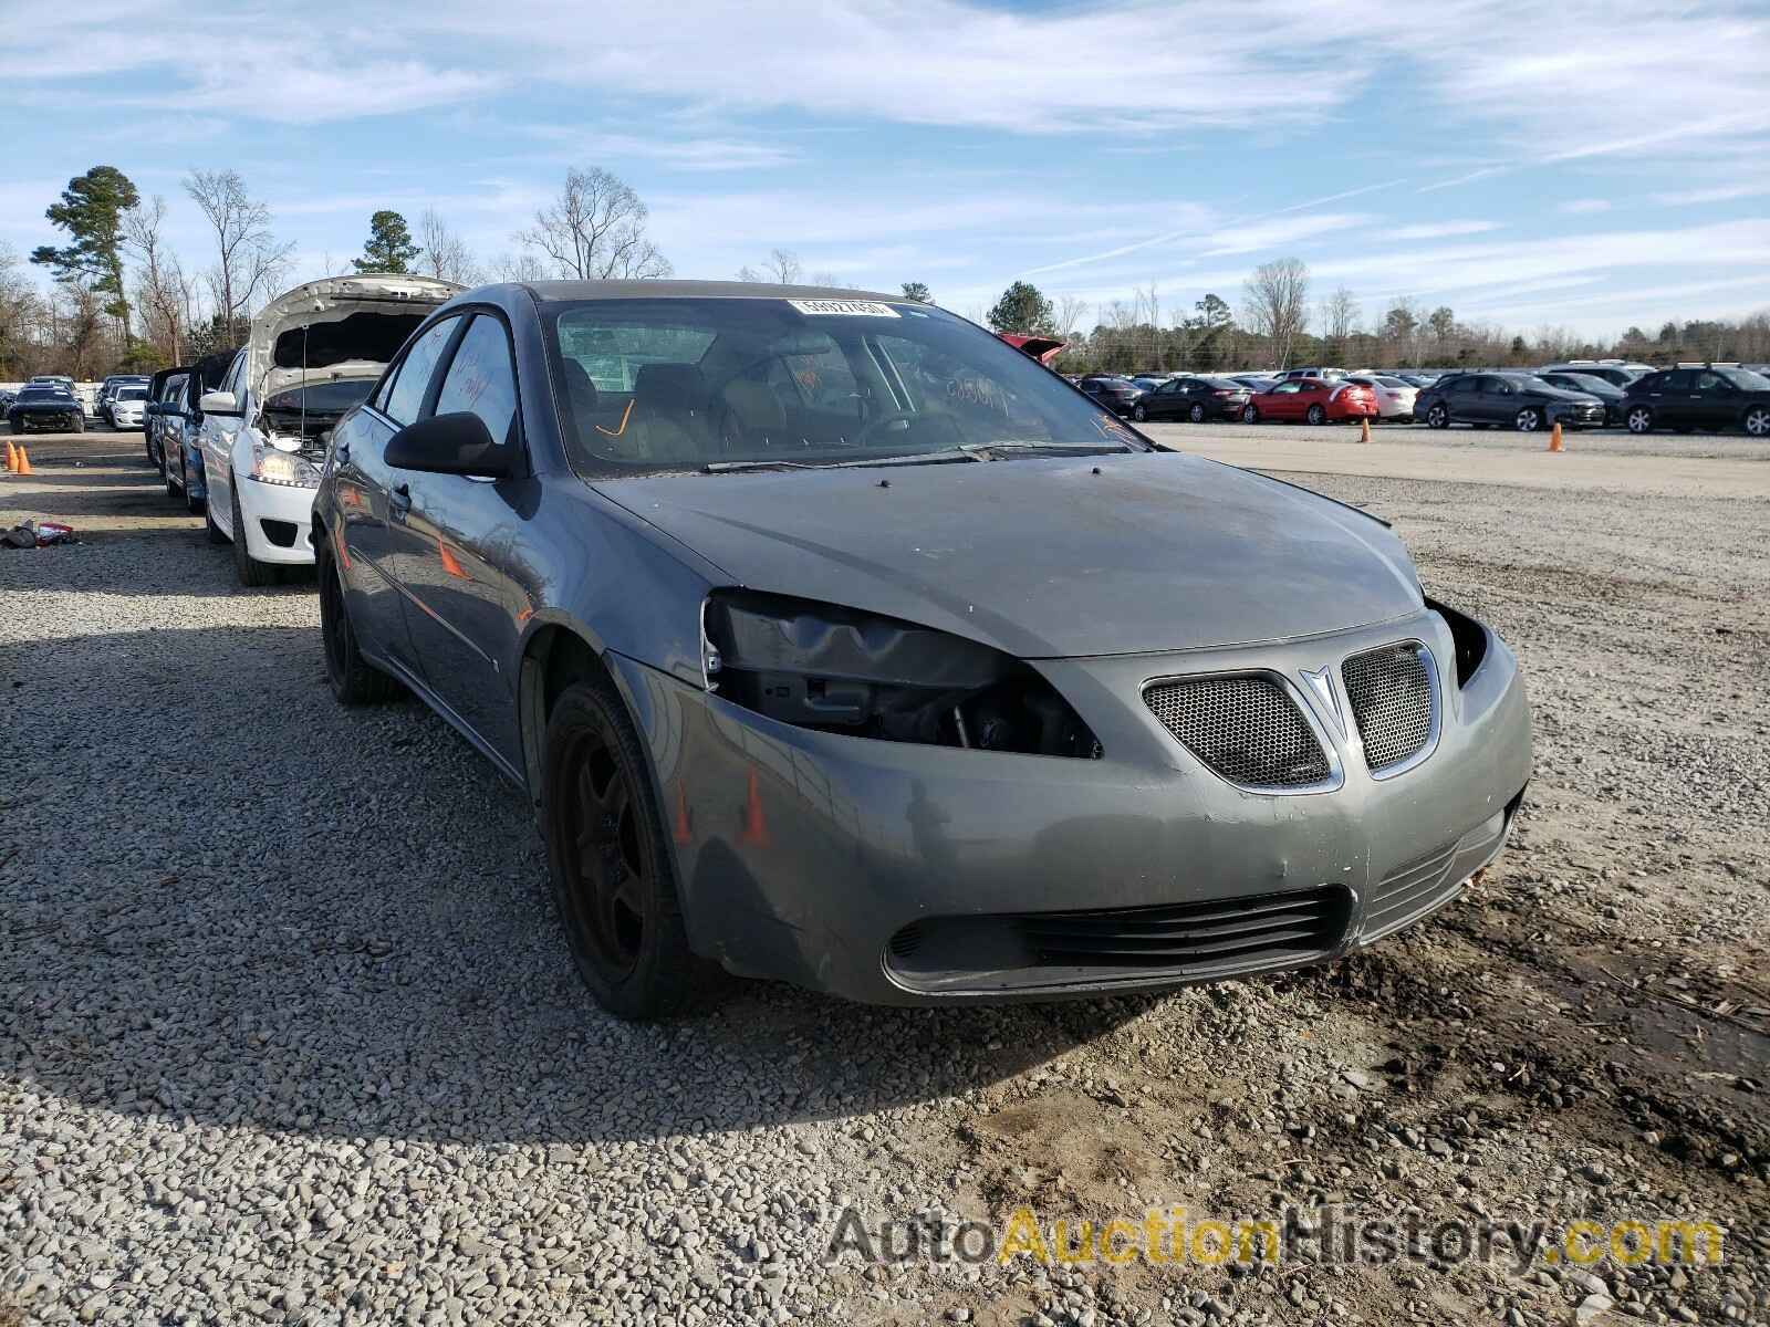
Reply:
[[782, 724], [935, 747], [1101, 754], [1035, 669], [975, 640], [750, 591], [717, 591], [704, 632], [719, 694]]

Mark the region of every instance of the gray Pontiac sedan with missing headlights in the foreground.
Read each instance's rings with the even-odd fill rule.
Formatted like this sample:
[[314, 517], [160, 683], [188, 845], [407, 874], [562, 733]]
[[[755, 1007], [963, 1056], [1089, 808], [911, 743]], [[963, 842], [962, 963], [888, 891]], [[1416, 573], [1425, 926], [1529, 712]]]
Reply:
[[313, 541], [333, 692], [418, 694], [527, 793], [627, 1017], [720, 970], [959, 1003], [1328, 961], [1453, 899], [1531, 773], [1512, 651], [1384, 522], [892, 295], [458, 295], [338, 421]]

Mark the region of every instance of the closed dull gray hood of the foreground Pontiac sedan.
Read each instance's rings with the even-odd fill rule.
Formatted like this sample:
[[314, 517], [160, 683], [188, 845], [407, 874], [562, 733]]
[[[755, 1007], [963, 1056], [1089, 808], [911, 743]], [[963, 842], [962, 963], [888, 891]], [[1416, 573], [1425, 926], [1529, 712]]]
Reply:
[[595, 488], [731, 584], [901, 617], [1020, 658], [1276, 640], [1421, 605], [1412, 563], [1381, 522], [1175, 453]]

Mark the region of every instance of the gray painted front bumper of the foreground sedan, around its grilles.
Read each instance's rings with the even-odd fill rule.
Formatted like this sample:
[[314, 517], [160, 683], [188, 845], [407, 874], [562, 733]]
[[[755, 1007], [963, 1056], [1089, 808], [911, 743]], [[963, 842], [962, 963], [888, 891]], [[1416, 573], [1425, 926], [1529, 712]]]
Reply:
[[[1432, 754], [1391, 779], [1372, 777], [1354, 743], [1338, 750], [1333, 791], [1243, 791], [1140, 701], [1150, 678], [1255, 665], [1294, 678], [1400, 639], [1430, 646], [1443, 722]], [[1466, 688], [1444, 664], [1453, 658], [1448, 628], [1421, 614], [1258, 651], [1041, 664], [1101, 738], [1099, 761], [814, 733], [632, 660], [611, 664], [651, 745], [699, 954], [871, 1003], [956, 1003], [1320, 963], [1455, 897], [1504, 842], [1529, 779], [1531, 725], [1497, 637]], [[1051, 936], [1078, 925], [1204, 936], [1271, 909], [1296, 925], [1227, 957], [1207, 945], [1163, 966], [1027, 952], [1064, 950]]]

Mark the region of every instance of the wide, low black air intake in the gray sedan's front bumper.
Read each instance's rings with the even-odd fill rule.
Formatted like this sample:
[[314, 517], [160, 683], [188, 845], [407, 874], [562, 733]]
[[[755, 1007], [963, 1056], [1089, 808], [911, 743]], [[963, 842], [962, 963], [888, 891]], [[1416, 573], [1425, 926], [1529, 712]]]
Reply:
[[919, 991], [1030, 991], [1214, 980], [1333, 954], [1352, 924], [1336, 885], [1150, 908], [933, 917], [887, 943], [885, 963]]

